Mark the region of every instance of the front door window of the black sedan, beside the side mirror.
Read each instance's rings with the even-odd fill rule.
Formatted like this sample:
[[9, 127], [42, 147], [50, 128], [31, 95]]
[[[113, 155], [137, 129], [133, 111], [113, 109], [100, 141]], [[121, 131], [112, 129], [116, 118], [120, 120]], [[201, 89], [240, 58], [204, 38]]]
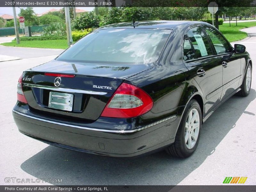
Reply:
[[218, 33], [215, 29], [210, 27], [205, 27], [205, 32], [212, 41], [217, 54], [230, 52], [230, 47], [228, 42]]

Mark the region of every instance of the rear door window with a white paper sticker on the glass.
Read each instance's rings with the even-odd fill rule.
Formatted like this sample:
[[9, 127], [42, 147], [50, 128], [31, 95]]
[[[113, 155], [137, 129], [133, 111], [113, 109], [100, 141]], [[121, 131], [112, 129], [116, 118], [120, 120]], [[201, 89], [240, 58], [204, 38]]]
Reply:
[[201, 27], [190, 29], [187, 36], [195, 49], [196, 58], [213, 55], [211, 45]]

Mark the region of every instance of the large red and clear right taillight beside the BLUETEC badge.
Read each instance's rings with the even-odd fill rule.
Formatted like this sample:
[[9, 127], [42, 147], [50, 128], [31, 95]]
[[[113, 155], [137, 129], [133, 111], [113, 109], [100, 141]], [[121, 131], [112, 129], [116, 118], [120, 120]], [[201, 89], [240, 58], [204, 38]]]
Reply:
[[143, 115], [151, 110], [153, 100], [140, 89], [131, 84], [121, 84], [108, 101], [101, 116], [131, 118]]

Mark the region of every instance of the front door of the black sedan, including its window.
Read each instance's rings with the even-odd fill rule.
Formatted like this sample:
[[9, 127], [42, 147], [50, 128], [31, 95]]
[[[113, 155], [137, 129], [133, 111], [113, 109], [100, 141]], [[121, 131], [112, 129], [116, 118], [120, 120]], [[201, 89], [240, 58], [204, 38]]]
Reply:
[[213, 51], [221, 59], [220, 62], [223, 69], [221, 100], [224, 100], [238, 88], [241, 77], [240, 56], [232, 52], [230, 44], [216, 29], [208, 26], [205, 26], [204, 29], [213, 45]]

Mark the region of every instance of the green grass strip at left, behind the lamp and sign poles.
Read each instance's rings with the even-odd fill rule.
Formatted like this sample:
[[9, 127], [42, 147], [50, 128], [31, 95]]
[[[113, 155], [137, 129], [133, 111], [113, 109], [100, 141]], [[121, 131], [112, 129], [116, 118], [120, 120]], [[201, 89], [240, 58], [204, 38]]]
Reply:
[[67, 49], [67, 40], [45, 40], [45, 41], [20, 41], [20, 44], [17, 44], [15, 40], [10, 43], [2, 43], [1, 45], [12, 46], [12, 47], [36, 47], [36, 48], [51, 48], [51, 49]]

